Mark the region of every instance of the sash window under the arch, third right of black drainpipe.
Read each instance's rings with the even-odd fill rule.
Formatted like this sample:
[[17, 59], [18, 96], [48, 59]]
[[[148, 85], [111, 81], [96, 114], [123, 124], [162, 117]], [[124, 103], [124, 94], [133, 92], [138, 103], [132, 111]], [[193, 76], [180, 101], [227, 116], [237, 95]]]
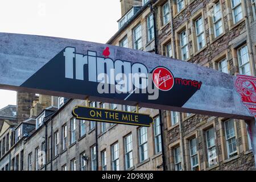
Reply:
[[213, 166], [214, 164], [217, 164], [216, 158], [216, 146], [215, 146], [215, 136], [213, 127], [209, 130], [205, 131], [206, 138], [207, 138], [207, 156], [208, 156], [208, 163], [209, 167]]

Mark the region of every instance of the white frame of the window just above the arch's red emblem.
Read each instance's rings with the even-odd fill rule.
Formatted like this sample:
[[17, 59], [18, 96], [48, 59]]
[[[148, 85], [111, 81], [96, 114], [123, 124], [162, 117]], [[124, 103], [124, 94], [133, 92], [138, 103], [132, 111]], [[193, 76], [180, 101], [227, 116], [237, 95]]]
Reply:
[[[246, 59], [247, 59], [247, 61], [246, 61], [245, 63], [242, 63], [242, 61], [243, 61], [243, 56], [245, 56], [245, 54], [241, 55], [241, 51], [242, 51], [243, 48], [246, 48]], [[244, 45], [244, 46], [242, 46], [242, 47], [240, 47], [240, 48], [237, 49], [237, 57], [238, 57], [238, 65], [239, 65], [239, 72], [240, 72], [240, 74], [243, 74], [243, 75], [251, 75], [250, 59], [249, 59], [249, 53], [248, 53], [248, 47], [247, 47], [247, 45]], [[247, 65], [249, 65], [249, 70], [250, 70], [250, 71], [247, 72], [247, 73], [245, 73], [245, 72], [243, 71], [243, 69], [244, 69]]]

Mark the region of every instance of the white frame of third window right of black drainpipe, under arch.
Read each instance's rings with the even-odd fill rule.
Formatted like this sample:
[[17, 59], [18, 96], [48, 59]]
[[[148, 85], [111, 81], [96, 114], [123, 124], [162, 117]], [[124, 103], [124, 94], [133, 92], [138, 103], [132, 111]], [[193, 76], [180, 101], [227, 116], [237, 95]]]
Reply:
[[[212, 132], [213, 136], [210, 136], [211, 132]], [[213, 166], [213, 165], [217, 164], [217, 161], [216, 161], [216, 163], [211, 162], [211, 160], [217, 159], [216, 137], [215, 137], [215, 132], [214, 132], [213, 127], [209, 128], [208, 130], [205, 131], [205, 137], [206, 137], [206, 143], [207, 143], [207, 158], [208, 158], [208, 164], [209, 164], [209, 167], [210, 167], [210, 166]], [[210, 139], [212, 139], [212, 137], [213, 137], [214, 143], [209, 144], [208, 140], [211, 141]], [[212, 152], [212, 151], [214, 151], [214, 152]]]

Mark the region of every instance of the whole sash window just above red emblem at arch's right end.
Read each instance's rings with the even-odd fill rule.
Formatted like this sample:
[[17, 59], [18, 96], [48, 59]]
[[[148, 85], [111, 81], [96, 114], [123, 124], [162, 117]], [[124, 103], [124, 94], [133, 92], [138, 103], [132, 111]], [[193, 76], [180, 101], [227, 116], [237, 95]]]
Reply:
[[238, 49], [239, 71], [242, 75], [251, 75], [247, 45]]

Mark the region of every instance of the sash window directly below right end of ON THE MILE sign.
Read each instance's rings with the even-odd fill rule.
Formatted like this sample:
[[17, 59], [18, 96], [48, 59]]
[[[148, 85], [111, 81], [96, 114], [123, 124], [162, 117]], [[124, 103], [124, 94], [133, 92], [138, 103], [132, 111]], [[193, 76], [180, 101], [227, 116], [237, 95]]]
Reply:
[[143, 162], [148, 158], [147, 153], [147, 128], [139, 128], [139, 161]]

